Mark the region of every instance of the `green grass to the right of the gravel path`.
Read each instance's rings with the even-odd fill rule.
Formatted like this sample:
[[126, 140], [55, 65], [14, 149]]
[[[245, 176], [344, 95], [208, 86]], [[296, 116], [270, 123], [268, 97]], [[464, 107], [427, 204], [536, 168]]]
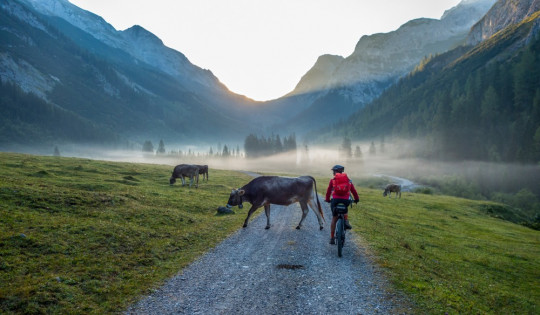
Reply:
[[539, 231], [490, 216], [489, 202], [359, 194], [353, 231], [418, 313], [540, 313]]

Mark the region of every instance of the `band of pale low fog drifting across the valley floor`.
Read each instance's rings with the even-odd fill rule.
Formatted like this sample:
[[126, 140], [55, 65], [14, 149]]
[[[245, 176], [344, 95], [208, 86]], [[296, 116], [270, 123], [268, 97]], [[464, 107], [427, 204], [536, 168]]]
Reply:
[[[345, 172], [355, 181], [372, 188], [382, 188], [394, 182], [393, 177], [413, 181], [420, 186], [435, 185], [442, 179], [470, 185], [471, 194], [482, 199], [493, 191], [517, 193], [527, 189], [540, 196], [539, 165], [505, 164], [481, 161], [440, 161], [414, 158], [424, 150], [419, 142], [395, 141], [387, 143], [352, 142], [350, 150], [343, 150], [339, 141], [331, 145], [299, 145], [296, 151], [246, 158], [241, 145], [234, 144], [231, 156], [209, 154], [211, 146], [167, 145], [167, 153], [145, 153], [141, 150], [104, 150], [87, 146], [60, 148], [62, 156], [97, 160], [154, 163], [170, 165], [171, 172], [178, 164], [207, 164], [212, 169], [252, 171], [261, 173], [312, 175], [328, 177], [335, 164], [345, 166]], [[237, 149], [240, 151], [236, 151]], [[221, 145], [214, 146], [219, 152]], [[232, 150], [231, 150], [232, 151]], [[51, 152], [52, 153], [52, 152]], [[170, 174], [164, 174], [164, 177]], [[379, 180], [375, 180], [379, 179]], [[370, 182], [371, 180], [371, 182]], [[325, 183], [326, 184], [326, 183]], [[405, 189], [407, 190], [407, 189]], [[467, 195], [464, 195], [467, 196]]]

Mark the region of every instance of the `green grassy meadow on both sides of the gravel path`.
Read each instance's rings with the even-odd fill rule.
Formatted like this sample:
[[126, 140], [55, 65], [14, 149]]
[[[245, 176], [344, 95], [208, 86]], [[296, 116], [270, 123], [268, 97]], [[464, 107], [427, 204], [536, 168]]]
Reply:
[[[190, 189], [169, 186], [166, 165], [0, 159], [1, 314], [119, 313], [239, 229], [249, 208], [216, 215], [250, 180], [238, 172], [211, 168]], [[506, 208], [358, 191], [354, 237], [415, 313], [540, 313], [540, 232], [493, 217]]]

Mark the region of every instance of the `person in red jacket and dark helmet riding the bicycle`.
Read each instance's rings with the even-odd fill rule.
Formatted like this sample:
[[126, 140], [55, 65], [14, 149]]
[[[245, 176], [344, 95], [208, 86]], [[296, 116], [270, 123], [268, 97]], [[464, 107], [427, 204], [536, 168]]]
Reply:
[[[343, 203], [347, 207], [350, 205], [350, 194], [353, 194], [354, 202], [358, 203], [360, 198], [358, 198], [358, 192], [354, 188], [352, 181], [349, 179], [345, 171], [345, 167], [341, 165], [334, 165], [331, 169], [334, 173], [334, 178], [330, 180], [328, 184], [328, 189], [326, 189], [326, 202], [330, 202], [330, 209], [332, 209], [332, 223], [330, 224], [330, 244], [336, 244], [335, 241], [335, 232], [336, 232], [336, 222], [337, 222], [337, 213], [336, 213], [336, 204]], [[332, 200], [330, 201], [330, 196]], [[349, 223], [349, 215], [345, 214], [345, 228], [347, 230], [352, 229], [351, 224]]]

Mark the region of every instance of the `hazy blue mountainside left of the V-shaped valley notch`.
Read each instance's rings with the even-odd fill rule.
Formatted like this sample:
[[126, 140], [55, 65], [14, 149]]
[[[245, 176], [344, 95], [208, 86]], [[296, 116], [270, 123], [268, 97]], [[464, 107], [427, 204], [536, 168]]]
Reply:
[[0, 35], [3, 150], [241, 139], [252, 130], [242, 115], [255, 102], [140, 26], [116, 31], [65, 0], [9, 0], [0, 4]]

